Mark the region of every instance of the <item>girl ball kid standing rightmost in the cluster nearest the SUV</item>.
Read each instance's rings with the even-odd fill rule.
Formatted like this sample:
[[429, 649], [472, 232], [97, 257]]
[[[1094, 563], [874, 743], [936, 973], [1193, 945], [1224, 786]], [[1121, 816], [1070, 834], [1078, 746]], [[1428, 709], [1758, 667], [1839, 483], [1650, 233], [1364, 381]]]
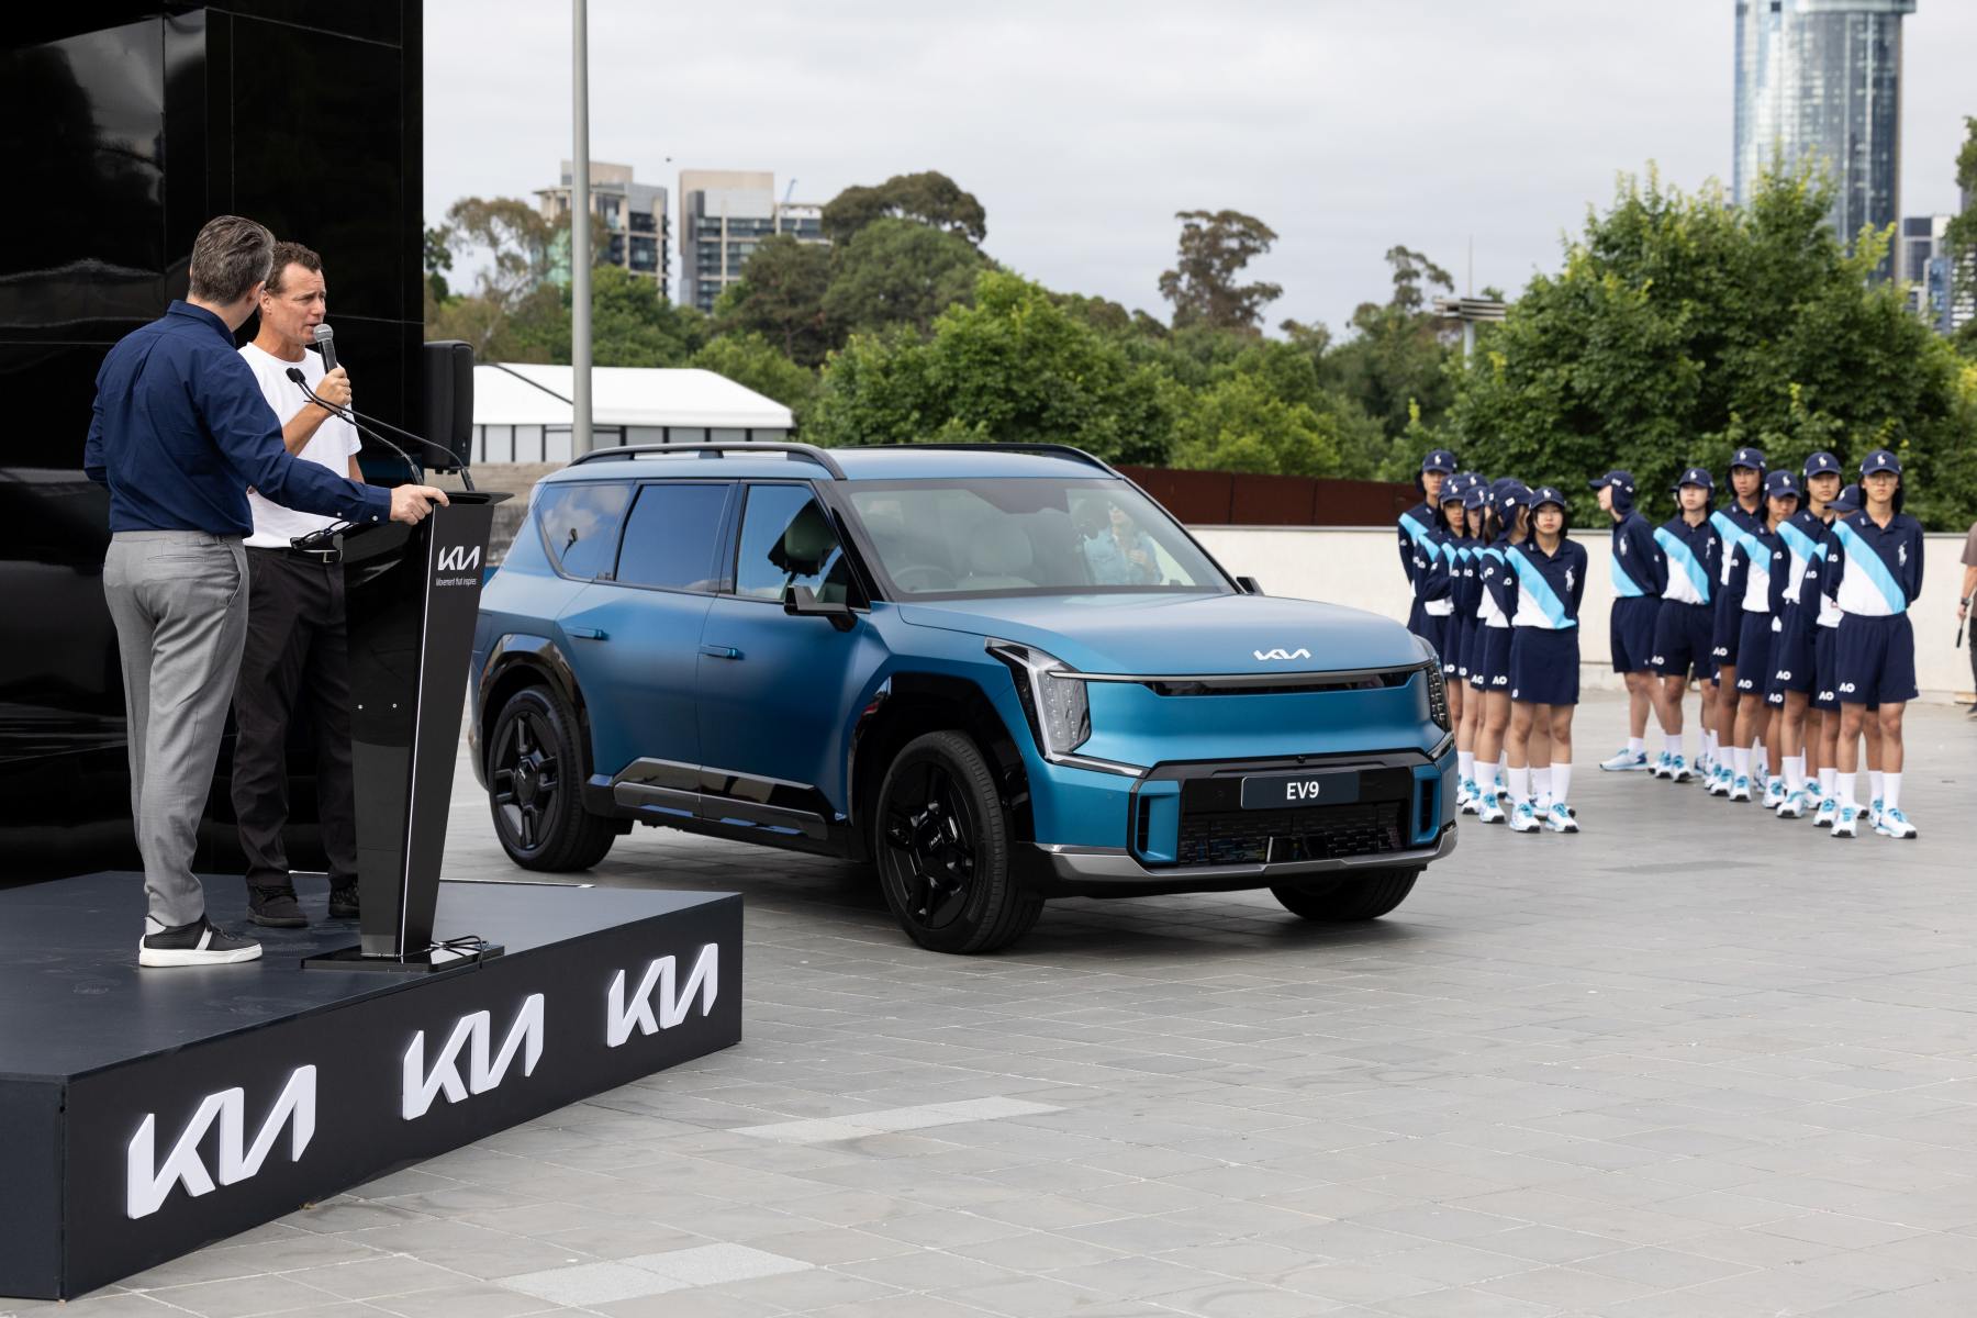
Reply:
[[1580, 703], [1580, 599], [1586, 595], [1586, 547], [1566, 537], [1566, 496], [1542, 486], [1530, 496], [1530, 539], [1504, 559], [1516, 571], [1510, 617], [1510, 816], [1514, 832], [1536, 832], [1540, 818], [1526, 796], [1532, 727], [1550, 731], [1550, 804], [1542, 826], [1578, 832], [1566, 800], [1572, 790], [1572, 713]]

